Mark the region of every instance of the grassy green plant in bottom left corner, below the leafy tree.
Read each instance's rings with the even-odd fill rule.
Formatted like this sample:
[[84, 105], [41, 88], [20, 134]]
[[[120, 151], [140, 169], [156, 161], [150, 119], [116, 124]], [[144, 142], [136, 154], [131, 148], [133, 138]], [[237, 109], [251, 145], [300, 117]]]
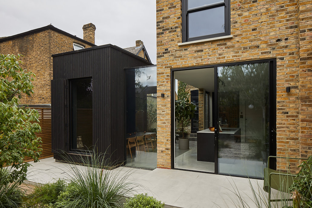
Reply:
[[0, 208], [15, 208], [22, 204], [23, 194], [18, 187], [19, 181], [8, 183], [12, 167], [0, 169]]

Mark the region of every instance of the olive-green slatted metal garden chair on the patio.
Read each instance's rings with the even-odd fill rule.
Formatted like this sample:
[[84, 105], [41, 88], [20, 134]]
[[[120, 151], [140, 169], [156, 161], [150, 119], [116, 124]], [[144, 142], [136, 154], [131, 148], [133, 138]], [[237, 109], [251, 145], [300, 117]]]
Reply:
[[290, 193], [290, 186], [293, 185], [295, 180], [299, 179], [299, 174], [289, 174], [280, 171], [275, 171], [270, 169], [270, 159], [271, 158], [285, 158], [285, 159], [295, 159], [295, 160], [312, 160], [312, 156], [307, 158], [295, 158], [295, 157], [279, 157], [279, 156], [269, 156], [267, 167], [264, 169], [264, 191], [269, 193], [269, 208], [271, 207], [272, 201], [290, 201], [291, 199], [272, 199], [271, 200], [271, 188], [276, 189], [281, 192]]

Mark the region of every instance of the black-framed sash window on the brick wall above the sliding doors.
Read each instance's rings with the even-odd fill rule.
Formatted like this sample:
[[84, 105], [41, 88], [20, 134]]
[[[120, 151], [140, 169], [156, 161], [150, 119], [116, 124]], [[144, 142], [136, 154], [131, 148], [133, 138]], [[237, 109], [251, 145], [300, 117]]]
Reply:
[[183, 42], [230, 35], [230, 0], [182, 0]]

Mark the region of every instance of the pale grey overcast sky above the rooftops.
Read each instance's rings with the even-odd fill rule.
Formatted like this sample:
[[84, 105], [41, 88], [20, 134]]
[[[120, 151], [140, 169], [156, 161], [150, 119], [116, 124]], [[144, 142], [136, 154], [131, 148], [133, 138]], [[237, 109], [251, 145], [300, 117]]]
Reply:
[[83, 38], [82, 26], [95, 24], [95, 44], [126, 48], [142, 40], [156, 64], [155, 0], [14, 0], [1, 1], [0, 37], [11, 36], [50, 23]]

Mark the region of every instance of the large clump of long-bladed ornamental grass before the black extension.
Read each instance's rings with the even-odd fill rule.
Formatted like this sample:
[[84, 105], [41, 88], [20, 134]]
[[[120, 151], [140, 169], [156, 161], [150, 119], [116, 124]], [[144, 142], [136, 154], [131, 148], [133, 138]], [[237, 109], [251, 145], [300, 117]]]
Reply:
[[105, 156], [106, 153], [96, 153], [93, 149], [91, 156], [80, 156], [85, 166], [69, 165], [66, 171], [68, 186], [58, 197], [56, 207], [122, 207], [120, 200], [129, 196], [138, 185], [129, 179], [129, 172], [107, 170], [116, 164], [110, 163], [110, 158], [105, 159]]

